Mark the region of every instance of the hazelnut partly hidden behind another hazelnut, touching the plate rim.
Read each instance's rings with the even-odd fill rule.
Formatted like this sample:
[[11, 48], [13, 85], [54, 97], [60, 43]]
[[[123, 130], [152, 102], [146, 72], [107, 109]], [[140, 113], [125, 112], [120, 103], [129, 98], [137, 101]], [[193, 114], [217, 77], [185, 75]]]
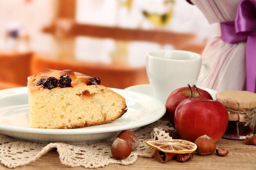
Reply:
[[130, 145], [132, 150], [135, 150], [139, 146], [139, 140], [137, 136], [130, 130], [121, 131], [117, 137], [125, 140]]

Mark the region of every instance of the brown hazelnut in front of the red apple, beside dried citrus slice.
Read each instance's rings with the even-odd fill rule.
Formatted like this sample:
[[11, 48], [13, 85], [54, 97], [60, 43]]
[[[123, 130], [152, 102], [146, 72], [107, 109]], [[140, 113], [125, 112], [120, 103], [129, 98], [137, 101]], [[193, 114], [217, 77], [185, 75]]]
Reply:
[[212, 154], [216, 150], [215, 141], [207, 135], [198, 137], [198, 139], [195, 140], [195, 144], [198, 146], [195, 152], [200, 155]]

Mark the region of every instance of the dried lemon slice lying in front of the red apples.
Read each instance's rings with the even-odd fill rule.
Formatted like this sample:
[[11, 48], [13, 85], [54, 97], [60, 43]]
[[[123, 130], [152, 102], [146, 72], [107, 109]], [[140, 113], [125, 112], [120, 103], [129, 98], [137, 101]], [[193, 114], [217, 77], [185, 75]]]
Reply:
[[146, 141], [146, 144], [166, 153], [192, 153], [196, 150], [196, 144], [182, 139]]

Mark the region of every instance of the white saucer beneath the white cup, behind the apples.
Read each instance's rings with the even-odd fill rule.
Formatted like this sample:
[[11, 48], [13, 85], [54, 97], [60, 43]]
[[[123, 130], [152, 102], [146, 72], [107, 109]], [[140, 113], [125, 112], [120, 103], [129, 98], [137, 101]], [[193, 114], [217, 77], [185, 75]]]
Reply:
[[[201, 88], [205, 91], [208, 91], [208, 93], [211, 94], [212, 98], [214, 100], [216, 99], [216, 94], [218, 93], [217, 91], [215, 91], [213, 89], [210, 89], [210, 88], [206, 88], [206, 87], [200, 87], [200, 86], [198, 88]], [[125, 88], [124, 90], [143, 93], [145, 95], [149, 95], [151, 97], [154, 97], [153, 96], [153, 91], [150, 87], [150, 84], [140, 84], [140, 85], [130, 86], [130, 87]]]

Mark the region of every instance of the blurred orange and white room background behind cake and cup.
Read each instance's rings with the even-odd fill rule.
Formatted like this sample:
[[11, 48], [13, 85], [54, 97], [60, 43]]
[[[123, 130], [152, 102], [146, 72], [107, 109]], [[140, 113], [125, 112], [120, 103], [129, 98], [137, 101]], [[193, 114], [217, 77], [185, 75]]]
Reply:
[[0, 89], [47, 68], [146, 84], [147, 51], [201, 53], [219, 34], [186, 0], [0, 0]]

